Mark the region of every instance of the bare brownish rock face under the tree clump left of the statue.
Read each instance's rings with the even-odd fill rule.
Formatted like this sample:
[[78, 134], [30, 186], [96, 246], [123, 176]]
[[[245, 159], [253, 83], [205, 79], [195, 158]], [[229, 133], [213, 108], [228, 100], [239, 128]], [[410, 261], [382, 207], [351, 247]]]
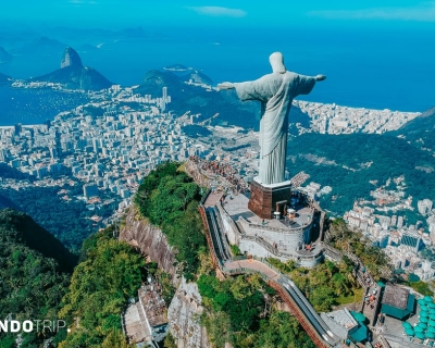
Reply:
[[128, 211], [120, 239], [139, 248], [151, 261], [159, 263], [160, 269], [172, 275], [174, 284], [179, 282], [174, 266], [175, 252], [166, 237], [159, 227], [142, 219], [134, 207]]

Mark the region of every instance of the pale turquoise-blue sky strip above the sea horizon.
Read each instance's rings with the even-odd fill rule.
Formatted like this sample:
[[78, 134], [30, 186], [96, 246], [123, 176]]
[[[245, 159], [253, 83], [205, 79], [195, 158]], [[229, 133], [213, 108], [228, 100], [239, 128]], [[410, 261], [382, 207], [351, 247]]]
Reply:
[[69, 26], [435, 26], [435, 1], [418, 0], [0, 0], [3, 23]]

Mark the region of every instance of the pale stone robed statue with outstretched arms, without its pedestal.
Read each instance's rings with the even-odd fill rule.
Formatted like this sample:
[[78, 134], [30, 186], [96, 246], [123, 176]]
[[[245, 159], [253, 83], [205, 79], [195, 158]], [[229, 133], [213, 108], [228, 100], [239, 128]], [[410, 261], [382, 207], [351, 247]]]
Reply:
[[288, 72], [284, 65], [281, 52], [272, 53], [269, 58], [272, 74], [246, 83], [222, 83], [220, 89], [237, 91], [240, 100], [261, 101], [260, 120], [260, 167], [258, 181], [262, 185], [284, 182], [288, 113], [291, 101], [299, 95], [308, 95], [315, 82], [324, 80], [326, 76], [303, 76]]

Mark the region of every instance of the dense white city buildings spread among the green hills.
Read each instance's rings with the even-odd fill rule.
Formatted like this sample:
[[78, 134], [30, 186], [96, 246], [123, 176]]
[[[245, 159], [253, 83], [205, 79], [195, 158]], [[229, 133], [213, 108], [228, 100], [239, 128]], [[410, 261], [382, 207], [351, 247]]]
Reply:
[[[59, 84], [14, 83], [14, 88], [40, 87], [62, 88]], [[206, 162], [231, 163], [240, 183], [251, 182], [258, 171], [258, 133], [240, 132], [244, 130], [240, 127], [210, 126], [210, 121], [217, 114], [202, 122], [197, 122], [197, 115], [188, 110], [175, 115], [169, 111], [171, 96], [166, 87], [162, 88], [160, 97], [140, 96], [135, 94], [134, 87], [121, 88], [119, 85], [105, 91], [88, 92], [88, 97], [91, 102], [62, 112], [47, 124], [0, 128], [0, 161], [37, 178], [35, 183], [5, 179], [1, 183], [2, 188], [58, 186], [63, 200], [82, 199], [89, 210], [95, 210], [98, 204], [113, 203], [113, 199], [101, 200], [103, 192], [109, 191], [120, 198], [114, 212], [116, 216], [132, 203], [140, 181], [165, 161], [183, 162], [195, 156]], [[418, 115], [304, 101], [295, 101], [295, 104], [308, 113], [312, 130], [320, 133], [326, 132], [320, 126], [324, 116], [331, 119], [330, 125], [334, 125], [328, 126], [327, 132], [346, 134], [397, 129]], [[343, 121], [339, 125], [335, 122], [338, 119]], [[207, 126], [211, 135], [187, 136], [183, 129], [195, 124]], [[203, 170], [207, 172], [206, 167]], [[288, 179], [290, 173], [286, 175]], [[69, 191], [62, 189], [69, 183], [80, 185], [83, 196], [70, 197]], [[422, 221], [407, 225], [400, 212], [413, 208], [412, 197], [406, 197], [406, 178], [391, 178], [381, 186], [373, 182], [373, 201], [356, 201], [344, 219], [349, 226], [362, 231], [373, 243], [385, 248], [397, 269], [413, 272], [425, 281], [432, 279], [435, 271], [419, 251], [435, 243], [433, 202], [430, 199], [419, 201]], [[309, 183], [302, 189], [313, 199], [333, 190], [328, 186], [321, 188], [316, 183]], [[92, 219], [99, 222], [98, 209], [95, 211]], [[383, 215], [382, 212], [394, 214]], [[423, 220], [426, 220], [426, 228], [422, 227]]]

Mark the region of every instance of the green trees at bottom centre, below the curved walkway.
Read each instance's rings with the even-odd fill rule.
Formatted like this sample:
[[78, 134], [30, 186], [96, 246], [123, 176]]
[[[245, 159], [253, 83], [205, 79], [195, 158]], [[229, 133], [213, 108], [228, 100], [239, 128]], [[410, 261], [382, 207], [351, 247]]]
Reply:
[[297, 320], [274, 308], [275, 290], [259, 275], [219, 281], [202, 274], [198, 288], [206, 307], [201, 323], [216, 348], [311, 348], [310, 338]]

